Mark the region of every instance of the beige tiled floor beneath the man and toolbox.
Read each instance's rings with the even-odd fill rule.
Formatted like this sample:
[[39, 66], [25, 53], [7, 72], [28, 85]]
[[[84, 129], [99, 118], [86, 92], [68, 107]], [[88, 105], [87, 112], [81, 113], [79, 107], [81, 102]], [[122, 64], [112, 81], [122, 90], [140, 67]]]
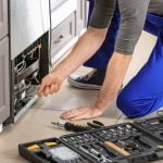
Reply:
[[[155, 37], [143, 33], [139, 43], [137, 45], [133, 63], [127, 73], [125, 84], [138, 72], [142, 64], [149, 58], [149, 53], [155, 42]], [[88, 70], [80, 68], [76, 73], [84, 74]], [[60, 114], [68, 109], [87, 104], [95, 100], [98, 91], [88, 91], [75, 89], [64, 84], [62, 90], [49, 98], [39, 99], [30, 110], [14, 125], [4, 128], [0, 135], [0, 163], [25, 163], [26, 161], [18, 156], [17, 145], [45, 139], [50, 137], [59, 137], [68, 134], [65, 130], [53, 127], [50, 122], [61, 121]], [[149, 116], [153, 116], [149, 115]], [[97, 120], [105, 125], [128, 122], [116, 108], [115, 102], [110, 109]], [[86, 123], [82, 121], [79, 123]]]

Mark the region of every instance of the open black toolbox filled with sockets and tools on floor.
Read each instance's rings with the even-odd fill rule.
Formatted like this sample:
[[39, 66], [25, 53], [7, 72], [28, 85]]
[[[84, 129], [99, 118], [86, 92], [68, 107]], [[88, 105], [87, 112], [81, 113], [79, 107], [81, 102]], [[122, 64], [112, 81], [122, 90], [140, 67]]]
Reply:
[[[151, 118], [154, 120], [162, 122], [163, 117]], [[142, 127], [149, 121], [23, 143], [18, 150], [22, 156], [35, 163], [148, 163], [163, 160], [163, 138], [156, 133], [153, 135], [150, 126]]]

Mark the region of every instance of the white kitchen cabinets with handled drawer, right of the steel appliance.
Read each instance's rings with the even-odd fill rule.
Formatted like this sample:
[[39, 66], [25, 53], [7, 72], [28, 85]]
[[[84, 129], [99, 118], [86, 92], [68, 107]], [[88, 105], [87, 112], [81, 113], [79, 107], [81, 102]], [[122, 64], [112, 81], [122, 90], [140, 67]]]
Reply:
[[51, 0], [52, 61], [64, 55], [86, 28], [86, 24], [87, 0], [59, 0], [58, 3]]

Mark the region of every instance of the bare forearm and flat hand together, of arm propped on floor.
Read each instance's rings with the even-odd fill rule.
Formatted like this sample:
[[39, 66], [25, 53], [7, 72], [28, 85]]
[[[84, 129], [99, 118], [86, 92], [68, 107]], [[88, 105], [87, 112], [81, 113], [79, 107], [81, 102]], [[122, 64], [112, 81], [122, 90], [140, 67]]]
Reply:
[[117, 96], [117, 91], [124, 80], [130, 60], [131, 55], [114, 52], [108, 66], [104, 84], [96, 102], [64, 112], [61, 118], [78, 121], [83, 118], [93, 118], [103, 114], [113, 99]]

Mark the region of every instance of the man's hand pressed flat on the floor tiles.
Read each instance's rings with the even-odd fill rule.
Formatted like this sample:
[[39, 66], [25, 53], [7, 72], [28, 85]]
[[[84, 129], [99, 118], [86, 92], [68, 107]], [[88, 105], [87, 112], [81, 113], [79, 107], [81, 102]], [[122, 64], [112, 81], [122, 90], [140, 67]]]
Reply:
[[61, 118], [68, 121], [93, 118], [102, 115], [105, 109], [101, 109], [96, 106], [96, 104], [91, 104], [64, 112], [61, 114]]

